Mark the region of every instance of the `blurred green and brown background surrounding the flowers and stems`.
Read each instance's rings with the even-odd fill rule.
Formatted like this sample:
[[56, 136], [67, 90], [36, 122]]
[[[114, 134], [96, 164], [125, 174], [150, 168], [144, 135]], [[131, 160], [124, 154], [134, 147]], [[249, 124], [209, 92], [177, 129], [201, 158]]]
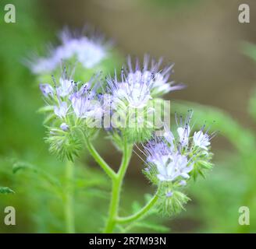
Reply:
[[[16, 23], [4, 23], [6, 3], [16, 6]], [[238, 22], [241, 3], [250, 5], [251, 23]], [[37, 114], [41, 93], [22, 61], [31, 51], [44, 51], [48, 42], [55, 44], [63, 26], [79, 29], [86, 23], [115, 41], [119, 55], [110, 68], [119, 68], [126, 54], [142, 58], [150, 53], [175, 62], [173, 78], [187, 89], [165, 99], [181, 112], [193, 107], [197, 120], [215, 121], [213, 128], [220, 131], [213, 142], [215, 167], [187, 189], [192, 199], [187, 211], [172, 219], [153, 217], [131, 231], [255, 233], [254, 0], [1, 1], [0, 186], [15, 194], [0, 195], [0, 232], [65, 233], [63, 163], [44, 144], [43, 117]], [[96, 144], [116, 168], [119, 153], [107, 140]], [[99, 232], [110, 184], [86, 152], [76, 164], [76, 231]], [[124, 214], [154, 191], [141, 169], [142, 162], [133, 156], [123, 189]], [[3, 223], [7, 205], [16, 208], [16, 226]], [[238, 223], [238, 209], [244, 205], [250, 209], [250, 226]]]

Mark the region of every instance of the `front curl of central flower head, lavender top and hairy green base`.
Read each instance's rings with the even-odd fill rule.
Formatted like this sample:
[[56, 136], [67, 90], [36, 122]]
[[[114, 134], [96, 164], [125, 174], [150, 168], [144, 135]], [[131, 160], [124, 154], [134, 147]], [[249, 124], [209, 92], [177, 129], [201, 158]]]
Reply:
[[121, 79], [107, 78], [107, 93], [111, 107], [120, 117], [123, 133], [130, 142], [144, 142], [154, 128], [155, 108], [152, 107], [151, 81], [144, 80], [141, 72], [127, 77], [122, 69]]

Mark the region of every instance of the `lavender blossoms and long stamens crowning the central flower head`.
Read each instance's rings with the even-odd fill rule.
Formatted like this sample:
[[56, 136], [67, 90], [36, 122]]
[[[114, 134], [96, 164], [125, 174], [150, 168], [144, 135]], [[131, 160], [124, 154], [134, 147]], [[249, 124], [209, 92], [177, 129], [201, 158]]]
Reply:
[[115, 109], [119, 107], [143, 108], [155, 96], [182, 89], [183, 85], [174, 85], [174, 82], [169, 82], [172, 65], [160, 69], [161, 64], [162, 59], [151, 60], [150, 63], [150, 57], [145, 55], [143, 68], [140, 69], [138, 60], [133, 68], [129, 57], [127, 66], [122, 69], [121, 79], [117, 79], [117, 75], [113, 79], [107, 79], [108, 93], [112, 95], [113, 107]]

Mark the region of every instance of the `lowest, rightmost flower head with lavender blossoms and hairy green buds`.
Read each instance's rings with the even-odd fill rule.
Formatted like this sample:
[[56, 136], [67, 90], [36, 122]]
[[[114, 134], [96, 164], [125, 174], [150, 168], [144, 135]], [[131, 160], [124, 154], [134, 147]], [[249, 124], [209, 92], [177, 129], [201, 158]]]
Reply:
[[204, 132], [205, 125], [191, 134], [191, 118], [191, 110], [185, 118], [176, 116], [177, 127], [173, 132], [165, 127], [161, 136], [155, 135], [140, 150], [146, 156], [144, 174], [158, 186], [156, 206], [162, 215], [172, 216], [184, 209], [183, 205], [189, 201], [182, 191], [187, 181], [199, 174], [204, 176], [204, 170], [212, 168], [212, 135]]

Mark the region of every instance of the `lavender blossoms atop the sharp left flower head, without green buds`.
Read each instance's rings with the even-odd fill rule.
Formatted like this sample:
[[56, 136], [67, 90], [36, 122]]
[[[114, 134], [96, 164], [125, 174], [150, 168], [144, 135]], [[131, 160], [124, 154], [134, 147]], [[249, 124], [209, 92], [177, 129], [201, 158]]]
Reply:
[[[52, 96], [46, 102], [49, 106], [52, 106], [52, 110], [57, 117], [63, 119], [70, 115], [80, 119], [86, 119], [87, 117], [101, 118], [101, 100], [97, 93], [98, 76], [95, 75], [86, 83], [75, 82], [71, 76], [67, 75], [65, 68], [59, 82], [54, 79], [54, 87], [49, 84], [41, 84], [40, 89], [44, 96]], [[69, 124], [66, 125], [60, 128], [66, 131]]]

